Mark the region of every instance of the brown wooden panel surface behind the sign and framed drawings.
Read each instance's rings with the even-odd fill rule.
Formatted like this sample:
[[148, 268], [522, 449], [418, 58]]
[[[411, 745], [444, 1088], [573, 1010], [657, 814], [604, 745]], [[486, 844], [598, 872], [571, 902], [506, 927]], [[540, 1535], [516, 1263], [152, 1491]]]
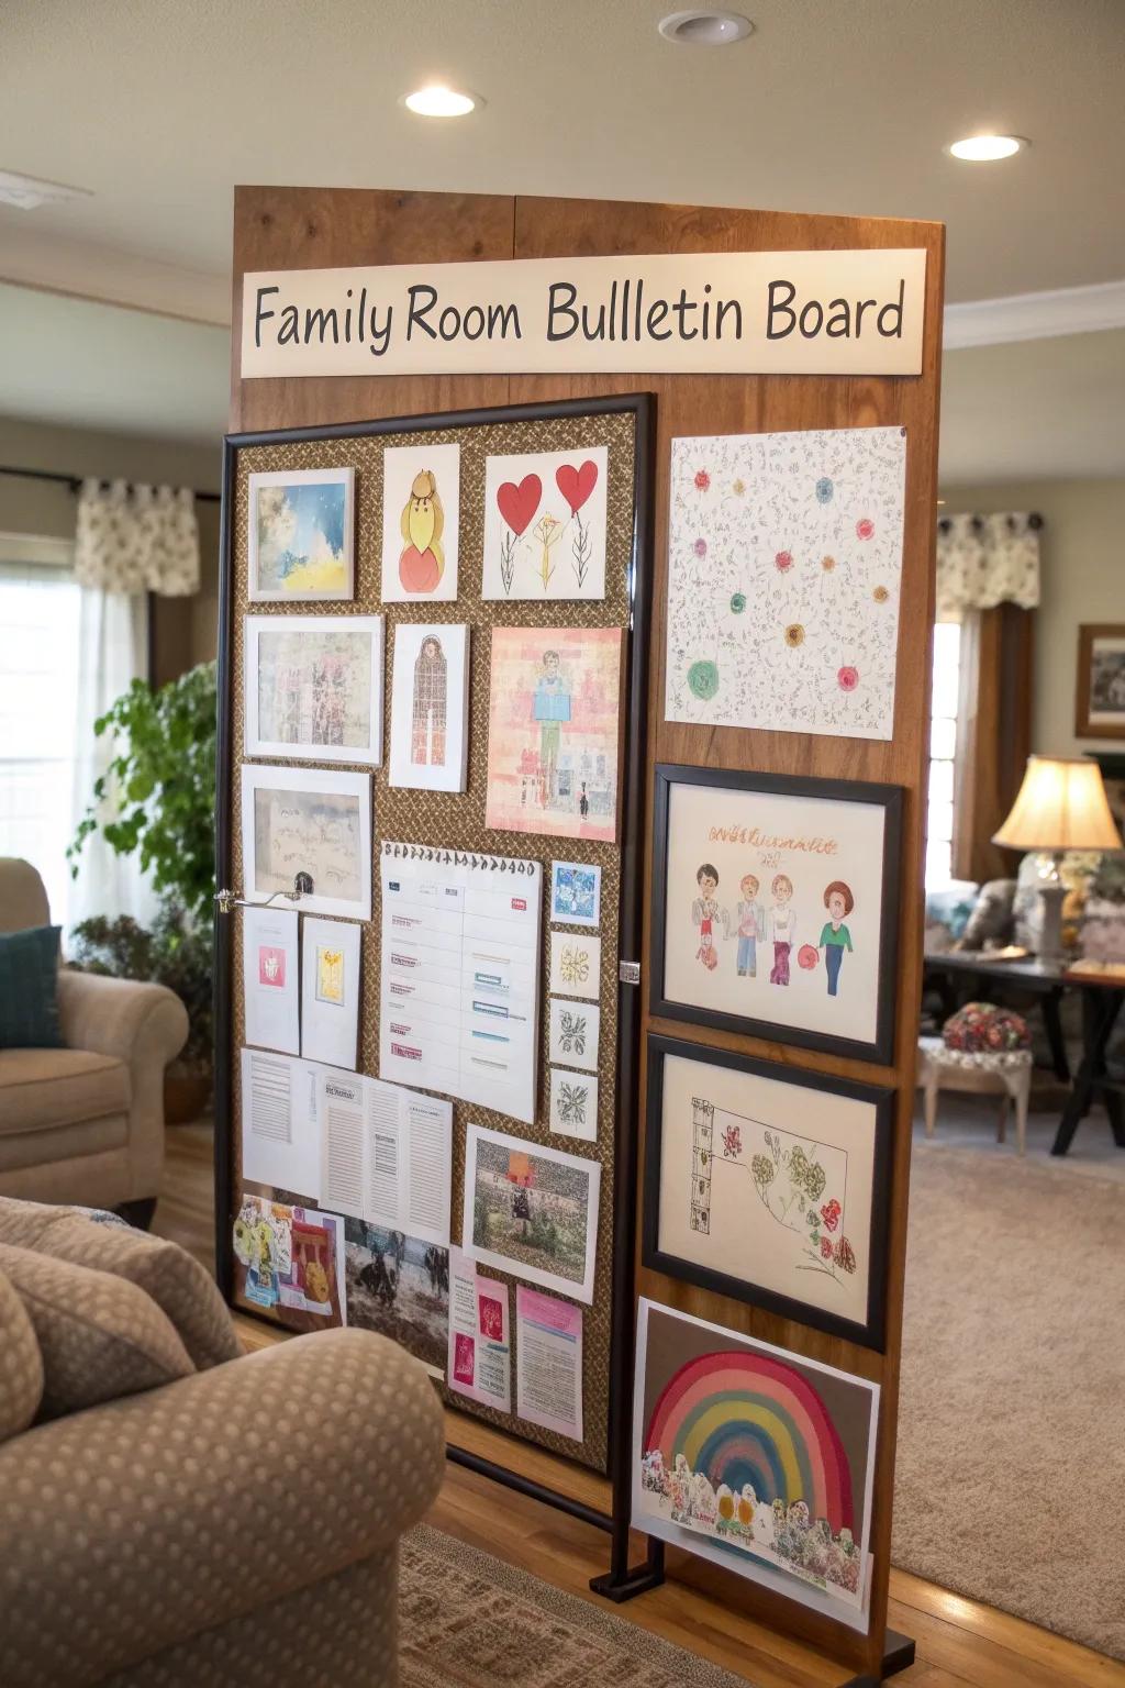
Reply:
[[[460, 375], [337, 376], [250, 380], [238, 368], [241, 280], [256, 270], [332, 268], [341, 265], [440, 263], [474, 258], [622, 257], [659, 252], [793, 252], [842, 246], [926, 248], [923, 368], [918, 376], [592, 376]], [[934, 518], [938, 496], [938, 410], [941, 383], [945, 228], [892, 218], [816, 216], [719, 206], [644, 204], [636, 201], [558, 199], [503, 194], [427, 194], [393, 189], [238, 187], [234, 191], [231, 427], [278, 429], [341, 424], [371, 417], [449, 412], [535, 400], [592, 398], [607, 392], [656, 393], [653, 663], [649, 746], [654, 761], [712, 768], [757, 768], [764, 773], [855, 778], [902, 787], [897, 993], [899, 1025], [885, 1069], [840, 1055], [786, 1048], [793, 1067], [885, 1082], [896, 1089], [894, 1166], [887, 1231], [885, 1352], [848, 1344], [764, 1308], [683, 1285], [638, 1261], [638, 1286], [653, 1300], [695, 1312], [715, 1323], [810, 1354], [880, 1382], [879, 1447], [872, 1518], [872, 1595], [867, 1636], [859, 1636], [793, 1602], [762, 1597], [742, 1578], [717, 1566], [670, 1555], [670, 1570], [707, 1588], [729, 1610], [746, 1612], [771, 1629], [788, 1631], [805, 1646], [810, 1669], [825, 1658], [840, 1680], [882, 1680], [909, 1663], [909, 1646], [887, 1629], [891, 1511], [899, 1394], [902, 1273], [909, 1193], [914, 1062], [911, 1004], [921, 994], [923, 959], [923, 822], [929, 716], [929, 662], [934, 613]], [[778, 731], [693, 728], [663, 719], [663, 645], [666, 603], [668, 463], [678, 436], [774, 432], [869, 425], [907, 427], [902, 530], [902, 603], [896, 675], [894, 738], [855, 741]], [[651, 775], [649, 775], [651, 778]], [[643, 852], [651, 885], [651, 849]], [[641, 1023], [648, 1031], [678, 1035], [681, 1026], [651, 1013], [648, 1001], [649, 932], [644, 920]], [[779, 1045], [702, 1028], [698, 1041], [781, 1058]], [[644, 1074], [639, 1075], [639, 1128], [644, 1131]], [[641, 1190], [636, 1198], [639, 1202]], [[622, 1273], [622, 1285], [627, 1278]], [[631, 1290], [629, 1290], [631, 1293]], [[617, 1317], [617, 1312], [616, 1312]], [[624, 1315], [622, 1315], [624, 1317]], [[632, 1320], [632, 1308], [627, 1312]], [[626, 1379], [626, 1389], [629, 1379]], [[464, 1453], [467, 1462], [476, 1455]], [[516, 1448], [513, 1448], [513, 1465]], [[526, 1492], [541, 1489], [541, 1457], [521, 1472]], [[627, 1475], [627, 1470], [626, 1470]], [[557, 1479], [563, 1487], [563, 1479]], [[573, 1484], [568, 1509], [597, 1521]], [[653, 1545], [649, 1563], [663, 1563]], [[617, 1550], [616, 1572], [621, 1573]], [[626, 1566], [627, 1568], [627, 1566]], [[624, 1588], [624, 1577], [617, 1577]]]

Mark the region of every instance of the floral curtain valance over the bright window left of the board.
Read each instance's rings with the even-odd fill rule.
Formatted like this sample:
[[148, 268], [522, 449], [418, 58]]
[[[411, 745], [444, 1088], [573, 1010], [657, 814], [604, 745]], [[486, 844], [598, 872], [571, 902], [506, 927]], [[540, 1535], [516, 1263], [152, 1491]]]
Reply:
[[189, 488], [84, 481], [78, 495], [74, 576], [105, 592], [199, 591], [199, 525]]

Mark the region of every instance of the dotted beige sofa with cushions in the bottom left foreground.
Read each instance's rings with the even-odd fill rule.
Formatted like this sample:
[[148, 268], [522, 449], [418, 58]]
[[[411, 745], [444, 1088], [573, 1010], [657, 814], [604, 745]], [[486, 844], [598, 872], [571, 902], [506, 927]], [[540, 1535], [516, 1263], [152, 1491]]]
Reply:
[[403, 1349], [233, 1357], [175, 1244], [0, 1200], [0, 1352], [3, 1688], [398, 1683], [398, 1538], [445, 1465]]

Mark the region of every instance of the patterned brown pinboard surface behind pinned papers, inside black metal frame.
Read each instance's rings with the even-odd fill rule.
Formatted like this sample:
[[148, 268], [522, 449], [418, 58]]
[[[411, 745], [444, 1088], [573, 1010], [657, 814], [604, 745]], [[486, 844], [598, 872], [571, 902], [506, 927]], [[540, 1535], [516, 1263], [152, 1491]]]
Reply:
[[[597, 403], [535, 405], [486, 410], [471, 415], [442, 415], [386, 420], [356, 429], [305, 429], [285, 436], [233, 436], [228, 441], [226, 474], [226, 555], [223, 598], [228, 611], [226, 636], [221, 655], [219, 697], [223, 699], [221, 739], [226, 748], [223, 778], [228, 809], [221, 815], [221, 869], [224, 885], [245, 886], [240, 782], [246, 761], [275, 768], [309, 768], [309, 760], [265, 758], [245, 755], [245, 670], [248, 614], [383, 614], [385, 626], [385, 695], [383, 695], [383, 765], [373, 771], [373, 863], [371, 891], [373, 918], [363, 923], [363, 984], [359, 1003], [359, 1072], [379, 1075], [379, 856], [385, 841], [395, 841], [420, 849], [476, 852], [538, 859], [543, 864], [541, 910], [541, 989], [540, 989], [540, 1065], [536, 1124], [526, 1126], [487, 1107], [454, 1101], [454, 1177], [452, 1177], [452, 1241], [460, 1241], [462, 1190], [466, 1173], [466, 1128], [474, 1124], [543, 1143], [567, 1153], [595, 1158], [600, 1163], [600, 1200], [597, 1225], [597, 1254], [594, 1271], [594, 1300], [582, 1308], [582, 1398], [584, 1438], [573, 1442], [516, 1416], [516, 1280], [493, 1266], [481, 1268], [487, 1276], [509, 1285], [511, 1295], [511, 1364], [513, 1411], [503, 1415], [477, 1404], [464, 1394], [447, 1389], [442, 1394], [450, 1406], [479, 1416], [498, 1428], [525, 1438], [555, 1453], [573, 1458], [597, 1472], [609, 1463], [609, 1393], [614, 1369], [616, 1328], [612, 1318], [612, 1261], [619, 1234], [619, 1128], [617, 1107], [629, 1106], [627, 1090], [619, 1089], [617, 1074], [632, 1072], [636, 1062], [636, 987], [621, 986], [617, 959], [629, 959], [639, 933], [639, 876], [622, 873], [634, 861], [641, 846], [643, 793], [638, 783], [639, 751], [644, 722], [644, 652], [648, 643], [648, 571], [644, 555], [648, 511], [648, 452], [649, 410], [644, 397], [626, 397]], [[383, 603], [381, 545], [383, 545], [383, 454], [388, 447], [418, 444], [455, 444], [460, 449], [459, 486], [459, 582], [457, 599], [447, 603], [412, 601]], [[498, 454], [579, 451], [595, 446], [607, 447], [606, 479], [606, 596], [602, 599], [482, 599], [484, 550], [484, 476], [486, 459]], [[356, 589], [351, 601], [326, 603], [251, 603], [248, 598], [248, 510], [250, 476], [253, 473], [351, 468], [356, 486]], [[388, 780], [390, 726], [391, 726], [391, 662], [395, 630], [405, 623], [467, 623], [469, 640], [469, 775], [464, 793], [410, 790], [391, 787]], [[624, 667], [619, 694], [621, 738], [617, 748], [619, 768], [619, 820], [617, 841], [599, 842], [548, 836], [541, 832], [504, 832], [486, 827], [486, 783], [489, 741], [489, 647], [494, 626], [545, 626], [579, 628], [611, 626], [622, 630]], [[638, 655], [639, 653], [639, 655]], [[626, 731], [629, 729], [629, 731]], [[627, 744], [626, 744], [627, 741]], [[314, 756], [315, 761], [315, 756]], [[366, 771], [364, 763], [334, 763], [334, 768]], [[599, 1090], [597, 1090], [597, 1141], [580, 1143], [552, 1134], [546, 1124], [548, 1106], [548, 982], [550, 933], [562, 930], [552, 925], [552, 861], [592, 863], [600, 868], [600, 1040], [599, 1040]], [[285, 906], [285, 905], [282, 905]], [[300, 905], [297, 905], [300, 913]], [[229, 1183], [221, 1190], [219, 1237], [226, 1239], [224, 1288], [233, 1305], [243, 1312], [270, 1317], [293, 1330], [310, 1327], [305, 1312], [278, 1307], [263, 1313], [238, 1290], [240, 1273], [229, 1252], [229, 1236], [240, 1212], [245, 1190], [277, 1202], [317, 1207], [309, 1192], [278, 1190], [268, 1185], [248, 1185], [241, 1175], [241, 1094], [238, 1053], [245, 1045], [243, 1011], [243, 910], [234, 908], [224, 922], [224, 945], [229, 955], [229, 1040], [224, 1045], [224, 1070], [219, 1075], [219, 1121], [223, 1131], [221, 1156], [229, 1166]], [[624, 1008], [622, 1008], [624, 1003]], [[224, 1094], [229, 1094], [229, 1102]], [[326, 1204], [331, 1209], [331, 1204]], [[626, 1246], [631, 1246], [627, 1232]], [[398, 1335], [405, 1345], [410, 1337]]]

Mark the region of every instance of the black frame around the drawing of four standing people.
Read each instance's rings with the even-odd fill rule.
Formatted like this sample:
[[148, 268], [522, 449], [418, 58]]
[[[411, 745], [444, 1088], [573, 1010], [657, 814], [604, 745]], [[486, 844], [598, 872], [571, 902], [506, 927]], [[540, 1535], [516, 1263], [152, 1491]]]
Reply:
[[[870, 1041], [840, 1038], [830, 1031], [779, 1025], [754, 1014], [680, 1003], [665, 994], [665, 952], [668, 915], [668, 819], [673, 785], [702, 785], [735, 792], [762, 792], [774, 797], [811, 797], [823, 802], [870, 803], [884, 810], [882, 900], [879, 918], [879, 1001], [875, 1036]], [[815, 780], [788, 773], [754, 773], [744, 768], [695, 768], [656, 763], [653, 787], [653, 944], [649, 974], [649, 1013], [659, 1020], [681, 1020], [717, 1031], [769, 1038], [821, 1055], [847, 1055], [880, 1067], [891, 1065], [896, 1028], [896, 960], [899, 952], [899, 859], [902, 839], [902, 787], [875, 785], [865, 780]]]

